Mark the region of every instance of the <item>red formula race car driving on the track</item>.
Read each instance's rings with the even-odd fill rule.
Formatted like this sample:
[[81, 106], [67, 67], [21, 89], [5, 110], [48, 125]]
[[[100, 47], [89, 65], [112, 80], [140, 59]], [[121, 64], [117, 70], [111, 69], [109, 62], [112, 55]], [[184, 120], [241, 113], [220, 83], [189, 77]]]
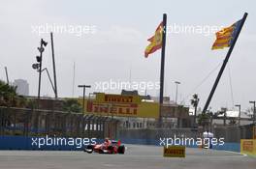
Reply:
[[105, 139], [102, 144], [88, 145], [85, 147], [84, 152], [91, 154], [93, 152], [99, 154], [124, 154], [125, 147], [121, 145], [120, 140]]

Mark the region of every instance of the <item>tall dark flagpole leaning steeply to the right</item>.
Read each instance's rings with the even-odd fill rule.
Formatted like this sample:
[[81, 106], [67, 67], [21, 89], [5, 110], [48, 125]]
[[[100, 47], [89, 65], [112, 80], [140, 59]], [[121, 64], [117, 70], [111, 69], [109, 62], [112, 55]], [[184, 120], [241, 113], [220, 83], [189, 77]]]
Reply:
[[232, 43], [231, 43], [231, 45], [230, 45], [230, 48], [229, 48], [229, 51], [228, 51], [228, 53], [227, 53], [227, 55], [226, 55], [226, 58], [225, 58], [225, 60], [223, 61], [223, 64], [222, 64], [222, 66], [221, 66], [221, 69], [220, 69], [219, 72], [218, 72], [217, 78], [216, 78], [216, 80], [215, 80], [215, 82], [214, 82], [214, 85], [213, 85], [213, 87], [212, 87], [212, 89], [211, 89], [211, 91], [210, 91], [210, 93], [209, 93], [208, 100], [207, 100], [206, 105], [205, 105], [205, 107], [204, 107], [204, 109], [203, 109], [203, 113], [206, 113], [207, 110], [208, 110], [208, 104], [209, 104], [209, 102], [210, 102], [212, 96], [214, 95], [214, 92], [215, 92], [215, 90], [216, 90], [216, 88], [217, 88], [219, 79], [220, 79], [220, 77], [221, 77], [223, 71], [225, 70], [225, 67], [226, 67], [226, 65], [227, 65], [227, 63], [228, 63], [228, 61], [229, 61], [230, 55], [231, 55], [231, 53], [232, 53], [232, 51], [233, 51], [233, 48], [234, 48], [234, 46], [235, 46], [235, 44], [236, 44], [236, 42], [237, 42], [237, 40], [238, 40], [238, 38], [239, 38], [239, 36], [240, 36], [240, 30], [241, 30], [241, 28], [242, 28], [242, 26], [243, 26], [243, 24], [244, 24], [244, 22], [245, 22], [245, 20], [246, 20], [246, 17], [247, 17], [247, 13], [244, 13], [244, 14], [243, 14], [243, 17], [242, 17], [242, 19], [241, 19], [241, 22], [240, 22], [240, 27], [238, 28], [238, 33], [235, 35], [234, 41], [232, 41]]

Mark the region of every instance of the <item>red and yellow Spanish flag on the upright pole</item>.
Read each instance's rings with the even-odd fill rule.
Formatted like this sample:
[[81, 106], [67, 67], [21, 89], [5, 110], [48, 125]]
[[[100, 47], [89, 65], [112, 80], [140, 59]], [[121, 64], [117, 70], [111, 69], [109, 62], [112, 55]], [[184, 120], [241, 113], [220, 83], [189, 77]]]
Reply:
[[147, 40], [150, 43], [146, 46], [144, 50], [145, 58], [147, 58], [149, 54], [155, 52], [162, 47], [163, 30], [163, 22], [161, 22], [155, 30], [155, 35]]

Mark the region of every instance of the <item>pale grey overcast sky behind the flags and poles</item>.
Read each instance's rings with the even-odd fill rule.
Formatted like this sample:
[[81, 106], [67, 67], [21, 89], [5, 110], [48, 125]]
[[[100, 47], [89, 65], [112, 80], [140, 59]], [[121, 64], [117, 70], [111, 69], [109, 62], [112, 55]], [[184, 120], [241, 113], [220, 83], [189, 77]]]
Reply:
[[[173, 33], [168, 34], [164, 90], [165, 96], [175, 99], [174, 81], [180, 81], [178, 101], [184, 100], [185, 104], [189, 104], [191, 94], [198, 93], [200, 106], [203, 107], [220, 63], [227, 53], [227, 49], [210, 49], [215, 37], [213, 32], [208, 34], [207, 28], [230, 26], [247, 12], [248, 17], [239, 41], [209, 105], [213, 109], [221, 106], [232, 108], [234, 99], [235, 104], [240, 103], [242, 109], [245, 109], [250, 106], [249, 100], [256, 99], [255, 7], [253, 0], [1, 1], [0, 79], [6, 79], [6, 66], [10, 80], [26, 79], [30, 95], [36, 96], [38, 73], [31, 65], [36, 62], [40, 39], [50, 42], [47, 27], [55, 26], [69, 29], [54, 32], [60, 97], [72, 97], [74, 63], [74, 97], [81, 95], [78, 84], [91, 84], [93, 88], [88, 90], [88, 94], [101, 92], [96, 88], [97, 84], [110, 82], [111, 79], [114, 82], [157, 83], [161, 51], [145, 59], [144, 48], [148, 44], [146, 40], [153, 35], [162, 20], [162, 14], [166, 13], [170, 28], [175, 25], [206, 28], [203, 33], [173, 30]], [[75, 31], [70, 30], [72, 27]], [[80, 27], [90, 30], [80, 34]], [[45, 33], [42, 32], [44, 29]], [[43, 55], [43, 67], [47, 67], [52, 76], [50, 45]], [[204, 80], [212, 70], [215, 71]], [[42, 80], [42, 95], [53, 96], [46, 73]], [[140, 94], [144, 94], [143, 90], [140, 91]], [[106, 92], [120, 93], [120, 89]], [[147, 94], [158, 96], [159, 91], [147, 90]]]

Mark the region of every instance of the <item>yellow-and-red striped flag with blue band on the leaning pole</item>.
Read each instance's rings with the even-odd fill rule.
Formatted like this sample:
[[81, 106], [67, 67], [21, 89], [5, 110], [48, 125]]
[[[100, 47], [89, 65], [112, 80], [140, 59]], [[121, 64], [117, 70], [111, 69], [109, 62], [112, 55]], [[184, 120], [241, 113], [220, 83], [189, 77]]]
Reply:
[[226, 27], [218, 31], [216, 33], [216, 40], [213, 43], [211, 49], [214, 50], [214, 49], [222, 49], [224, 47], [229, 47], [238, 33], [240, 22], [241, 20], [237, 21], [230, 27]]

